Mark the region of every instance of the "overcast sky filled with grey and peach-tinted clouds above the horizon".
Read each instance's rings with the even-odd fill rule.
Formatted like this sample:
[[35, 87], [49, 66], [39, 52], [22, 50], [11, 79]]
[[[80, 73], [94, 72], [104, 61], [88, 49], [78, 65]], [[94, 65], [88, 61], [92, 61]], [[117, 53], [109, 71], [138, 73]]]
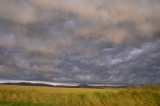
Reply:
[[160, 0], [0, 0], [0, 80], [160, 84]]

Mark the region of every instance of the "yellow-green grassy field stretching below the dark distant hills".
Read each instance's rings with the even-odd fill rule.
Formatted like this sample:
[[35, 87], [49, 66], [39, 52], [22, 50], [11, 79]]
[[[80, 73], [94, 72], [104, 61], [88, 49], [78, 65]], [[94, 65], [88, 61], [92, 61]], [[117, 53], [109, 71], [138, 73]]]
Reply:
[[0, 85], [0, 106], [160, 106], [160, 86], [93, 89]]

